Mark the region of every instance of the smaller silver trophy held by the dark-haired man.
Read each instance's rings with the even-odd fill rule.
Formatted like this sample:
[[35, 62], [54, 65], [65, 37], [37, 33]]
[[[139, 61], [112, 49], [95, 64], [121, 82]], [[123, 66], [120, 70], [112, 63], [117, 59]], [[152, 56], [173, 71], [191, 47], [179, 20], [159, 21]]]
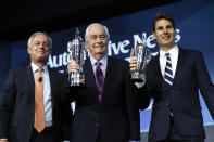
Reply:
[[151, 51], [147, 47], [146, 39], [142, 39], [139, 46], [131, 49], [130, 59], [137, 60], [137, 69], [131, 73], [131, 79], [135, 82], [146, 82], [147, 64], [151, 60]]

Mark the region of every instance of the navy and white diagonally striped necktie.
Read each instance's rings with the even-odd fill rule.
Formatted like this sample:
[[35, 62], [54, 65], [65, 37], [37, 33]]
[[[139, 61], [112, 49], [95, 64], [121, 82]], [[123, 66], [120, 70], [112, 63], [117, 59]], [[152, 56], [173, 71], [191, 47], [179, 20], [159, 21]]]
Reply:
[[169, 86], [173, 86], [173, 69], [172, 69], [172, 62], [171, 62], [169, 53], [166, 53], [166, 67], [165, 67], [164, 80]]

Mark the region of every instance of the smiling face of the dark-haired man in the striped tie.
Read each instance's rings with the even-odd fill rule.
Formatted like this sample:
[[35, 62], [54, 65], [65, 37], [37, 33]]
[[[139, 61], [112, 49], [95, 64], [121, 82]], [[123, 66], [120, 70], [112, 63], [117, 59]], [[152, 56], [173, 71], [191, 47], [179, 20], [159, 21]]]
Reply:
[[160, 49], [169, 50], [175, 46], [175, 29], [173, 24], [164, 18], [156, 21], [153, 37], [156, 39]]

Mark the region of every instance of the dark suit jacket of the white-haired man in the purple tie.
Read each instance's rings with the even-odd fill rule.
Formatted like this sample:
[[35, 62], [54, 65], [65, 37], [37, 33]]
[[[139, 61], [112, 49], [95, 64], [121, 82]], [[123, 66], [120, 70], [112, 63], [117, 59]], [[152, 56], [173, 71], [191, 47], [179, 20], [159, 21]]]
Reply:
[[139, 109], [136, 106], [129, 65], [108, 57], [103, 95], [98, 89], [90, 60], [84, 64], [86, 86], [72, 88], [76, 109], [72, 124], [72, 142], [127, 142], [140, 138]]

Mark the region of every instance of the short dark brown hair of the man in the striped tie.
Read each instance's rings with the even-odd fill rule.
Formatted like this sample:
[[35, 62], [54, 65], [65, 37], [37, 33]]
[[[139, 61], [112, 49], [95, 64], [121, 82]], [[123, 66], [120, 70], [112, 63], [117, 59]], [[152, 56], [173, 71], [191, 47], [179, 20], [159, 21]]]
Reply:
[[154, 20], [152, 21], [152, 31], [155, 31], [156, 22], [160, 21], [160, 20], [169, 21], [173, 25], [173, 28], [175, 29], [174, 18], [167, 13], [159, 12], [159, 13], [156, 13], [156, 16], [154, 17]]

